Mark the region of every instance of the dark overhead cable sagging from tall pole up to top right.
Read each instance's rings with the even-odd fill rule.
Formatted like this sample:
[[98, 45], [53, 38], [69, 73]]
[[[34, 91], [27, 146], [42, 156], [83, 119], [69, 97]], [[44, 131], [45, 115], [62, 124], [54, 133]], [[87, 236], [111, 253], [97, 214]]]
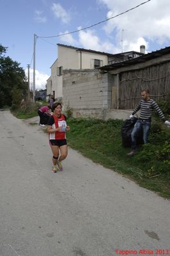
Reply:
[[146, 4], [146, 3], [150, 2], [150, 1], [151, 1], [151, 0], [145, 1], [145, 2], [143, 2], [143, 3], [141, 3], [141, 4], [138, 4], [137, 6], [135, 6], [135, 7], [133, 7], [133, 8], [128, 9], [128, 10], [125, 11], [125, 12], [121, 12], [121, 13], [115, 15], [115, 16], [112, 16], [112, 17], [109, 18], [109, 19], [102, 20], [102, 21], [100, 21], [100, 22], [98, 22], [98, 23], [95, 23], [95, 24], [93, 24], [93, 25], [91, 25], [91, 26], [88, 26], [88, 27], [86, 27], [86, 28], [77, 29], [77, 30], [75, 30], [75, 31], [68, 32], [68, 33], [63, 33], [63, 34], [59, 34], [59, 35], [56, 35], [56, 36], [37, 36], [37, 37], [39, 37], [39, 38], [59, 37], [59, 36], [65, 36], [65, 35], [73, 34], [73, 33], [76, 33], [76, 32], [79, 32], [79, 31], [82, 31], [82, 30], [85, 30], [85, 29], [88, 29], [88, 28], [93, 28], [94, 26], [97, 26], [98, 24], [104, 23], [104, 22], [106, 22], [106, 21], [108, 21], [108, 20], [114, 19], [114, 18], [116, 18], [116, 17], [118, 17], [118, 16], [120, 16], [120, 15], [123, 15], [124, 13], [130, 12], [130, 11], [134, 10], [135, 8], [138, 8], [139, 6], [141, 6], [141, 5], [143, 5], [143, 4]]

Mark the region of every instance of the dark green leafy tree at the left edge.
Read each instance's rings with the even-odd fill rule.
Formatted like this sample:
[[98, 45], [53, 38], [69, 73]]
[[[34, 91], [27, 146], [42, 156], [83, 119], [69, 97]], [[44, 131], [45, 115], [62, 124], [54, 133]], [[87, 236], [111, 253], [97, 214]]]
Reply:
[[[24, 69], [19, 67], [20, 63], [13, 61], [9, 56], [5, 56], [8, 47], [0, 45], [0, 108], [3, 106], [12, 106], [16, 101], [16, 92], [18, 99], [22, 99], [27, 93], [27, 82]], [[16, 92], [15, 92], [16, 91]]]

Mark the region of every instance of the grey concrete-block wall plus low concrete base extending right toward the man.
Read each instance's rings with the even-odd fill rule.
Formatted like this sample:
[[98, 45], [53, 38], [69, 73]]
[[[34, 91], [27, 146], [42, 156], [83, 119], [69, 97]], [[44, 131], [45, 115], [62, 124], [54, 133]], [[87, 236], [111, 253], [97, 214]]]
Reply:
[[73, 117], [127, 119], [132, 110], [111, 109], [114, 76], [99, 70], [63, 72], [63, 107], [72, 108]]

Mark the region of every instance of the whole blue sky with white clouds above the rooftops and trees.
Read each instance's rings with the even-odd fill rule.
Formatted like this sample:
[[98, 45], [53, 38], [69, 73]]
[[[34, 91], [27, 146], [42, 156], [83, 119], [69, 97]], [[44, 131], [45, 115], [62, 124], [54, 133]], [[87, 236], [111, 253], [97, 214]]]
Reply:
[[112, 54], [140, 51], [140, 45], [146, 46], [146, 52], [169, 46], [169, 0], [150, 0], [92, 28], [58, 36], [109, 19], [144, 2], [0, 0], [0, 44], [8, 47], [6, 55], [18, 61], [26, 72], [27, 64], [31, 64], [32, 77], [33, 37], [36, 34], [36, 89], [45, 88], [50, 67], [58, 58], [58, 43]]

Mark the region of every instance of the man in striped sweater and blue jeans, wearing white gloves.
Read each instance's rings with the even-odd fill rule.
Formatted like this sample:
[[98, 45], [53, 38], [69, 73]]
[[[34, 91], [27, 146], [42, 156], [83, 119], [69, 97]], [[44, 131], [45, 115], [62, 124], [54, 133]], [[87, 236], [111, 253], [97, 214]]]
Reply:
[[131, 134], [131, 152], [127, 154], [127, 156], [134, 156], [136, 150], [137, 150], [137, 141], [136, 136], [139, 133], [139, 131], [143, 130], [143, 141], [144, 143], [148, 143], [148, 135], [150, 132], [151, 127], [151, 115], [153, 113], [153, 110], [155, 109], [162, 119], [162, 121], [165, 122], [165, 124], [169, 124], [168, 121], [165, 120], [164, 114], [162, 113], [161, 109], [158, 107], [158, 104], [153, 100], [150, 99], [150, 92], [148, 89], [144, 89], [141, 92], [141, 101], [139, 102], [137, 108], [134, 109], [132, 115], [130, 115], [130, 118], [133, 117], [137, 111], [140, 109], [140, 115], [139, 119], [134, 125], [134, 129], [132, 130]]

